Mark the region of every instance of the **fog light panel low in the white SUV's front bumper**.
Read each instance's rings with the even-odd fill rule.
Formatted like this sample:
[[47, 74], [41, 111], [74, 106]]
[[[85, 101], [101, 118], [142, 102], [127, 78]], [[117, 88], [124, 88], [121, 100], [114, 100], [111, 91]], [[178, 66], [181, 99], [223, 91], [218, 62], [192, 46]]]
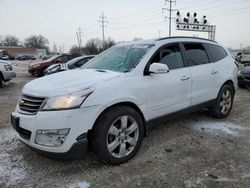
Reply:
[[48, 147], [61, 146], [69, 134], [69, 130], [69, 128], [37, 130], [35, 142], [36, 144]]

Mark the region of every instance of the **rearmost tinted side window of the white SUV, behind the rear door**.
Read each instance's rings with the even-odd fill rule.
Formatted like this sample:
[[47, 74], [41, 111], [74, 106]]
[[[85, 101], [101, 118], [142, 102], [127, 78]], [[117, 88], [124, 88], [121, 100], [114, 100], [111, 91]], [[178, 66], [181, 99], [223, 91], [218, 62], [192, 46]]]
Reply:
[[205, 44], [205, 46], [213, 62], [219, 61], [227, 56], [226, 51], [220, 46], [213, 45], [213, 44]]

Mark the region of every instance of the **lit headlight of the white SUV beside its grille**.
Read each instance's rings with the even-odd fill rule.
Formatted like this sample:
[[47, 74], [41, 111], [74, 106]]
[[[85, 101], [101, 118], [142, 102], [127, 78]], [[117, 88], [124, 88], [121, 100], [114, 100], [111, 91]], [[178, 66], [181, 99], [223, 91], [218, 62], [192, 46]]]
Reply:
[[63, 110], [79, 108], [83, 101], [92, 93], [92, 90], [86, 89], [84, 91], [64, 95], [50, 97], [46, 100], [42, 110]]

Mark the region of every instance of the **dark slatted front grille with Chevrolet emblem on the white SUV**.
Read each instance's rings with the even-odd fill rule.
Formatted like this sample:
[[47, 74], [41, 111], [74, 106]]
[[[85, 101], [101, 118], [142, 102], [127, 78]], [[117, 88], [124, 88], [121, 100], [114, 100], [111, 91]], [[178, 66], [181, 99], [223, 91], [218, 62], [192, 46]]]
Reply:
[[36, 114], [45, 99], [45, 97], [22, 94], [18, 102], [20, 112], [25, 114]]

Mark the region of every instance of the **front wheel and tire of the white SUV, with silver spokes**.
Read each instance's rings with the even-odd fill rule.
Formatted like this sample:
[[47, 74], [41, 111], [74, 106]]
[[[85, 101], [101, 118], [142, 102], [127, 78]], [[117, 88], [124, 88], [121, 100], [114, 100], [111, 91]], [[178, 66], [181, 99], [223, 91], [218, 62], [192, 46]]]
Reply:
[[118, 165], [139, 150], [144, 133], [140, 114], [127, 106], [115, 106], [102, 114], [91, 136], [91, 150], [99, 160]]

